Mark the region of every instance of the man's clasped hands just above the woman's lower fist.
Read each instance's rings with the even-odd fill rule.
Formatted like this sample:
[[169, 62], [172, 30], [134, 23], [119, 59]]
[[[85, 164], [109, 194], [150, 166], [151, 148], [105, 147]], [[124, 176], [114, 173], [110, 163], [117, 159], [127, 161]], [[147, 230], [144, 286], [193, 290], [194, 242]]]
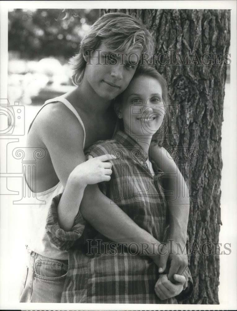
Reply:
[[[169, 263], [169, 269], [167, 267]], [[181, 275], [188, 266], [186, 246], [174, 240], [168, 240], [160, 250], [159, 273], [167, 271], [168, 280], [174, 282], [174, 274]]]

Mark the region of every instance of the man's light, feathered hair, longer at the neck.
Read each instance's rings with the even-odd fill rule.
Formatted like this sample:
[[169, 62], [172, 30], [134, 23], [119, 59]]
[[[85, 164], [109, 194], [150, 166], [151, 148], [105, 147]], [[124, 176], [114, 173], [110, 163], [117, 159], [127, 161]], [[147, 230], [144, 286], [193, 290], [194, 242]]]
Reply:
[[69, 60], [75, 85], [79, 85], [83, 79], [86, 67], [83, 55], [87, 54], [87, 50], [95, 51], [101, 41], [114, 51], [141, 49], [141, 53], [148, 54], [147, 59], [154, 53], [154, 39], [138, 18], [120, 12], [107, 13], [91, 26], [81, 41], [79, 52]]

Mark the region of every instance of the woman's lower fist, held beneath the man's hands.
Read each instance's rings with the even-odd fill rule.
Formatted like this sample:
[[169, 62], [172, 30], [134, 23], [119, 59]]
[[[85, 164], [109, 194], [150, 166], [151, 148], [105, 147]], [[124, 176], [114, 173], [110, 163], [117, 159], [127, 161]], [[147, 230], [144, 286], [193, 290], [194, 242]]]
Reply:
[[162, 274], [155, 284], [155, 293], [159, 299], [164, 300], [171, 297], [175, 297], [181, 293], [186, 283], [186, 278], [183, 275], [175, 274], [174, 280], [176, 284], [173, 284], [168, 280], [167, 274]]

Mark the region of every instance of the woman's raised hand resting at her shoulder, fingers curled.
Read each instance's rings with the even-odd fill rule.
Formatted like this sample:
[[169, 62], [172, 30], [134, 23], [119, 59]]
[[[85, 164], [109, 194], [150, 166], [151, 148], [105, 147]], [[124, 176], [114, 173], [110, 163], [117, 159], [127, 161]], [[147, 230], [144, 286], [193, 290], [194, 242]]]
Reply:
[[93, 158], [76, 166], [69, 175], [70, 183], [86, 187], [102, 181], [109, 181], [112, 174], [112, 164], [106, 162], [114, 159], [113, 156], [106, 154]]

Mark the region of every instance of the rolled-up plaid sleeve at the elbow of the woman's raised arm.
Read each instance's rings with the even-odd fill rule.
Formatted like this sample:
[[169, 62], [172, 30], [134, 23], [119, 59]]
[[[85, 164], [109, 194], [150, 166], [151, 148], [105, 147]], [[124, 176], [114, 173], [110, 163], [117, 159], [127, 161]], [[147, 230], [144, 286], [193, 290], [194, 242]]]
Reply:
[[71, 231], [64, 231], [60, 228], [58, 223], [57, 207], [62, 193], [53, 198], [51, 206], [48, 211], [46, 220], [46, 231], [50, 241], [61, 250], [67, 250], [77, 244], [83, 244], [82, 238], [85, 229], [86, 220], [83, 218], [80, 211], [74, 220], [74, 225]]

